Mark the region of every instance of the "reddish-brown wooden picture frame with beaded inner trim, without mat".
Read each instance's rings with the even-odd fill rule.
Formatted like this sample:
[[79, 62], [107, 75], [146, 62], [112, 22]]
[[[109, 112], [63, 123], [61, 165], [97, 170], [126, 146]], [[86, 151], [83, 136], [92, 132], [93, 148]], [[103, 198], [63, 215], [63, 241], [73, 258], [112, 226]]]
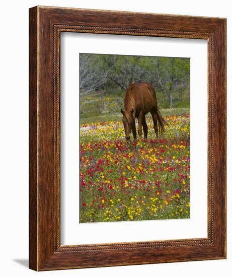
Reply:
[[[208, 41], [207, 238], [60, 245], [60, 33]], [[226, 20], [34, 7], [29, 10], [29, 267], [54, 270], [226, 258]]]

